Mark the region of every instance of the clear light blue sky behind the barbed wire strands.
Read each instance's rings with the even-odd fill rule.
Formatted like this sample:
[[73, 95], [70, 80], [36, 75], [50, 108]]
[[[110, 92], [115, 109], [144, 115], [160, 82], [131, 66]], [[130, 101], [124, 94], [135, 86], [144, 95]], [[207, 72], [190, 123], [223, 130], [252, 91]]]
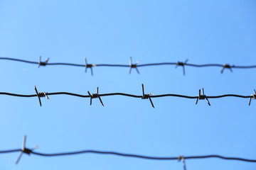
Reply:
[[[255, 1], [4, 1], [0, 0], [0, 57], [38, 62], [84, 64], [256, 64]], [[145, 93], [197, 96], [240, 94], [256, 89], [256, 69], [170, 66], [52, 66], [38, 68], [0, 60], [0, 91], [14, 94], [66, 91], [87, 95]], [[0, 96], [0, 150], [26, 147], [36, 152], [82, 149], [178, 157], [220, 154], [256, 159], [256, 101], [248, 98], [152, 98], [75, 96], [19, 98]], [[152, 161], [112, 155], [38, 157], [0, 154], [0, 169], [183, 169], [177, 161]], [[189, 159], [189, 170], [256, 169], [256, 164], [223, 159]]]

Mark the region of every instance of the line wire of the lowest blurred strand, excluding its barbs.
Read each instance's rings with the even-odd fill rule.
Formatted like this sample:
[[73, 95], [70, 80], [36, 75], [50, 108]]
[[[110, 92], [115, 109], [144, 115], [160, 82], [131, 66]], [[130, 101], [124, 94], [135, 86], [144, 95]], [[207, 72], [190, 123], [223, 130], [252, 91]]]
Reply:
[[[4, 150], [0, 151], [0, 154], [6, 154], [11, 152], [21, 152], [21, 149], [10, 149], [10, 150]], [[98, 150], [81, 150], [76, 152], [61, 152], [61, 153], [54, 153], [54, 154], [46, 154], [41, 152], [34, 152], [31, 150], [29, 154], [36, 154], [38, 156], [42, 157], [59, 157], [59, 156], [67, 156], [67, 155], [74, 155], [74, 154], [112, 154], [117, 155], [120, 157], [134, 157], [134, 158], [140, 158], [140, 159], [153, 159], [153, 160], [177, 160], [178, 157], [150, 157], [150, 156], [144, 156], [139, 154], [125, 154], [120, 152], [108, 152], [108, 151], [98, 151]], [[206, 158], [219, 158], [219, 159], [226, 159], [226, 160], [235, 160], [235, 161], [242, 161], [242, 162], [254, 162], [256, 163], [256, 159], [245, 159], [240, 157], [224, 157], [216, 154], [210, 154], [210, 155], [203, 155], [203, 156], [189, 156], [184, 157], [184, 159], [206, 159]]]

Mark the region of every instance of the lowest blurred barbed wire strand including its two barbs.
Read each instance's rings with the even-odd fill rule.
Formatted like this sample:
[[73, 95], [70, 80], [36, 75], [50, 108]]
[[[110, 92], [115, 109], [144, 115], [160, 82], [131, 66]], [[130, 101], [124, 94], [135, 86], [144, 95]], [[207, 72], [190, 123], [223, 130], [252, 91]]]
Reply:
[[121, 153], [121, 152], [99, 151], [99, 150], [92, 150], [92, 149], [80, 150], [80, 151], [75, 151], [75, 152], [60, 152], [60, 153], [46, 154], [46, 153], [41, 153], [41, 152], [34, 152], [33, 150], [36, 148], [38, 148], [38, 146], [33, 147], [31, 149], [28, 149], [26, 147], [26, 135], [25, 135], [23, 137], [23, 144], [22, 144], [21, 149], [2, 150], [2, 151], [0, 151], [0, 154], [21, 152], [18, 155], [16, 164], [18, 164], [18, 162], [20, 161], [23, 153], [28, 154], [28, 155], [35, 154], [35, 155], [38, 155], [41, 157], [59, 157], [59, 156], [68, 156], [68, 155], [75, 155], [75, 154], [112, 154], [112, 155], [116, 155], [119, 157], [134, 157], [134, 158], [139, 158], [139, 159], [151, 159], [151, 160], [178, 160], [178, 161], [181, 161], [181, 159], [182, 159], [184, 169], [186, 167], [185, 159], [219, 158], [219, 159], [225, 159], [225, 160], [256, 163], [256, 159], [245, 159], [245, 158], [240, 158], [240, 157], [224, 157], [224, 156], [217, 155], [217, 154], [202, 155], [202, 156], [188, 156], [188, 157], [184, 157], [183, 155], [180, 155], [178, 157], [151, 157], [151, 156], [145, 156], [145, 155], [139, 155], [139, 154], [127, 154], [127, 153]]

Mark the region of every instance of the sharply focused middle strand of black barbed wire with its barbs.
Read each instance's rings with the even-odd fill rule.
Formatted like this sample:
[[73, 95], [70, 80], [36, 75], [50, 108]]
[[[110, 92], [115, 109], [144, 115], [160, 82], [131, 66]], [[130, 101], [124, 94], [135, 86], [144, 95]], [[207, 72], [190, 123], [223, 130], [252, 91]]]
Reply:
[[203, 89], [202, 89], [202, 94], [201, 94], [201, 89], [199, 89], [198, 96], [185, 96], [185, 95], [181, 95], [181, 94], [160, 94], [160, 95], [145, 94], [144, 93], [144, 84], [142, 84], [142, 96], [134, 95], [134, 94], [124, 94], [124, 93], [99, 94], [99, 87], [97, 87], [96, 94], [90, 94], [90, 91], [87, 91], [87, 93], [89, 95], [73, 94], [73, 93], [69, 93], [69, 92], [53, 92], [53, 93], [40, 92], [40, 93], [38, 93], [36, 86], [34, 86], [34, 89], [36, 91], [36, 94], [11, 94], [11, 93], [6, 93], [6, 92], [0, 92], [0, 95], [17, 96], [17, 97], [36, 97], [37, 96], [40, 106], [42, 106], [41, 97], [46, 97], [47, 99], [49, 99], [48, 96], [51, 96], [51, 95], [64, 94], [64, 95], [69, 95], [69, 96], [78, 96], [81, 98], [90, 98], [90, 105], [92, 105], [92, 98], [99, 98], [102, 106], [104, 106], [104, 104], [102, 102], [102, 99], [100, 98], [101, 96], [128, 96], [128, 97], [133, 97], [133, 98], [149, 99], [151, 106], [153, 108], [154, 108], [154, 104], [153, 104], [151, 98], [161, 98], [161, 97], [166, 97], [166, 96], [179, 97], [179, 98], [190, 98], [190, 99], [196, 98], [196, 104], [198, 103], [198, 100], [206, 99], [209, 106], [210, 106], [210, 101], [208, 100], [208, 98], [223, 98], [223, 97], [229, 97], [229, 96], [230, 97], [238, 97], [238, 98], [250, 98], [249, 106], [250, 106], [251, 100], [256, 99], [256, 91], [255, 90], [254, 90], [254, 94], [251, 94], [250, 96], [242, 96], [242, 95], [238, 95], [238, 94], [223, 94], [223, 95], [219, 95], [219, 96], [206, 96], [206, 94], [204, 94]]

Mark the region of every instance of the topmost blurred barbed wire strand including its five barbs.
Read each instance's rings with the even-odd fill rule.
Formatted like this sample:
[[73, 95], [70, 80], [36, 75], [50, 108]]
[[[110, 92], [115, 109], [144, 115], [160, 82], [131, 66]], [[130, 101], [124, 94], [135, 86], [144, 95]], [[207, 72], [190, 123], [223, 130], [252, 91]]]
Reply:
[[41, 56], [39, 57], [38, 62], [32, 62], [28, 60], [20, 60], [15, 58], [9, 58], [9, 57], [0, 57], [0, 60], [12, 60], [16, 62], [26, 62], [30, 64], [38, 64], [38, 67], [40, 66], [46, 66], [46, 65], [66, 65], [66, 66], [75, 66], [75, 67], [85, 67], [85, 72], [87, 72], [87, 68], [91, 69], [92, 67], [129, 67], [129, 74], [132, 72], [132, 68], [136, 69], [137, 73], [139, 74], [139, 69], [137, 67], [146, 67], [146, 66], [159, 66], [159, 65], [175, 65], [177, 68], [178, 66], [183, 67], [183, 75], [185, 75], [185, 66], [191, 66], [191, 67], [222, 67], [220, 70], [220, 73], [224, 72], [224, 69], [230, 69], [230, 72], [233, 72], [233, 69], [255, 69], [256, 65], [251, 66], [235, 66], [230, 64], [188, 64], [188, 60], [185, 62], [159, 62], [159, 63], [151, 63], [151, 64], [138, 64], [139, 62], [136, 62], [135, 64], [132, 63], [132, 57], [129, 58], [129, 64], [87, 64], [87, 59], [85, 57], [85, 64], [72, 64], [72, 63], [63, 63], [63, 62], [55, 62], [55, 63], [48, 63], [49, 58], [46, 59], [45, 62], [41, 62]]

